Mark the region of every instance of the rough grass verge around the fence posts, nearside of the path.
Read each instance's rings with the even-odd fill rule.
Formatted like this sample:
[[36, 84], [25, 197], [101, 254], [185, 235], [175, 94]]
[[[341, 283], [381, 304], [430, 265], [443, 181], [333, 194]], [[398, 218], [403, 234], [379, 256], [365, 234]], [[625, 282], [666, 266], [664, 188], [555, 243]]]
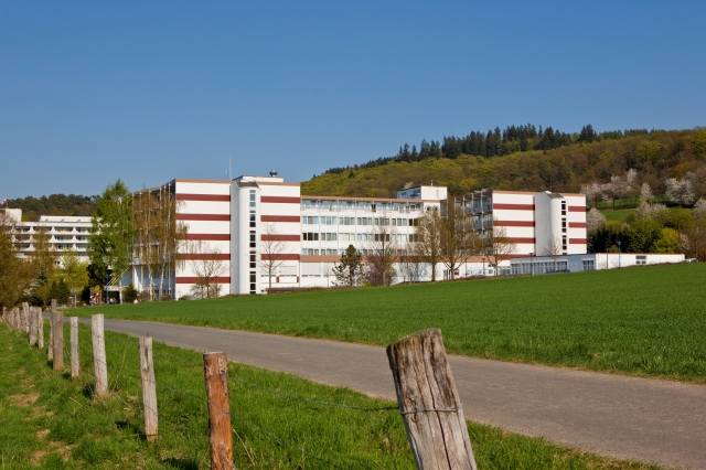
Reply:
[[[67, 334], [67, 330], [66, 330]], [[67, 337], [66, 337], [67, 338]], [[142, 434], [137, 340], [106, 332], [111, 395], [92, 393], [90, 335], [81, 328], [79, 380], [55, 373], [26, 335], [0, 324], [0, 469], [205, 469], [207, 412], [201, 355], [154, 344], [160, 437]], [[313, 400], [365, 408], [391, 403], [282, 373], [232, 364], [231, 415], [240, 469], [411, 469], [404, 426], [395, 410], [356, 412], [272, 394], [250, 384]], [[538, 438], [469, 424], [483, 469], [657, 469], [606, 459]], [[302, 452], [301, 449], [304, 449]]]

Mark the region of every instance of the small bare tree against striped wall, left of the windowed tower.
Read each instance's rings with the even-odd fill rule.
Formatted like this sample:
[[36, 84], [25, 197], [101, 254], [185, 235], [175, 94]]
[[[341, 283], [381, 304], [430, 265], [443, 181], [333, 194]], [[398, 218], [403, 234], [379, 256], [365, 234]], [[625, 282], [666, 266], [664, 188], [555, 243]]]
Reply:
[[227, 274], [221, 249], [203, 241], [192, 241], [188, 245], [189, 264], [196, 277], [192, 292], [197, 298], [213, 298], [221, 295], [218, 278]]

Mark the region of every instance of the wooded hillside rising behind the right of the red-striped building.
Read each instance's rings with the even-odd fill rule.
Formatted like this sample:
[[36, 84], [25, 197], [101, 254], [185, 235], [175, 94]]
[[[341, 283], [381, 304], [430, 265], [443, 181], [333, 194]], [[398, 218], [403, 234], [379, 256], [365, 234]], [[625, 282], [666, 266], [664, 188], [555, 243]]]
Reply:
[[[514, 140], [509, 138], [509, 141], [516, 142], [520, 139], [518, 145], [526, 141], [528, 149], [491, 157], [461, 152], [449, 158], [437, 152], [436, 157], [419, 159], [417, 156], [417, 161], [407, 161], [403, 147], [402, 159], [393, 157], [364, 165], [329, 170], [302, 182], [301, 193], [394, 197], [405, 186], [429, 184], [431, 181], [448, 186], [453, 195], [483, 188], [579, 192], [584, 184], [607, 183], [611, 177], [624, 177], [628, 170], [634, 169], [639, 174], [637, 183], [649, 183], [654, 193], [660, 194], [665, 191], [670, 178], [681, 180], [687, 174], [705, 172], [697, 171], [706, 168], [704, 128], [598, 135], [590, 126], [586, 126], [580, 135], [571, 137], [570, 143], [567, 141], [556, 148], [537, 150], [537, 141], [542, 142], [548, 129], [542, 132], [542, 137], [536, 131], [527, 140], [533, 135], [532, 127], [530, 130], [524, 127], [520, 131], [515, 128], [516, 135], [524, 132], [527, 137], [525, 140], [522, 137]], [[447, 138], [445, 146], [448, 142]], [[458, 141], [454, 146], [458, 148]], [[503, 148], [502, 142], [500, 148]]]

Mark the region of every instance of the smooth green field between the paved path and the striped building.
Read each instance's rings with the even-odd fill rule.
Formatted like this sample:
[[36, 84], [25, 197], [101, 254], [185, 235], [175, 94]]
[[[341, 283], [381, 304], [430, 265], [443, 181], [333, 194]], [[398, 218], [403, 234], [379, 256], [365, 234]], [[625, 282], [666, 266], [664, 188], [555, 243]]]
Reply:
[[447, 351], [706, 383], [706, 264], [107, 306], [154, 320], [386, 345], [440, 328]]

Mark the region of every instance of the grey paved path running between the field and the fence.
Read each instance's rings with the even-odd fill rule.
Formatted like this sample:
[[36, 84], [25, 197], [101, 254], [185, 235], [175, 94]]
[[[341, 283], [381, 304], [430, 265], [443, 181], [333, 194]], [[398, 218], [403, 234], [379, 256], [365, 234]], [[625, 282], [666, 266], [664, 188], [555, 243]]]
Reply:
[[[156, 322], [105, 327], [396, 399], [384, 348]], [[450, 363], [468, 419], [603, 456], [706, 469], [706, 386], [460, 356]]]

